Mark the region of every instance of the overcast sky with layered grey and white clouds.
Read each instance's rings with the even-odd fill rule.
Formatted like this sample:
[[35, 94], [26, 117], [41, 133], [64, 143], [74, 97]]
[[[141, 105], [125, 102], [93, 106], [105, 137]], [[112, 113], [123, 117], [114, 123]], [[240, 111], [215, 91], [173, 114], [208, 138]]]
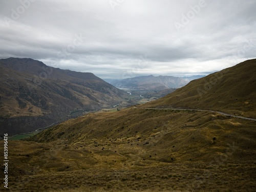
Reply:
[[0, 58], [100, 78], [209, 74], [256, 55], [256, 1], [0, 0]]

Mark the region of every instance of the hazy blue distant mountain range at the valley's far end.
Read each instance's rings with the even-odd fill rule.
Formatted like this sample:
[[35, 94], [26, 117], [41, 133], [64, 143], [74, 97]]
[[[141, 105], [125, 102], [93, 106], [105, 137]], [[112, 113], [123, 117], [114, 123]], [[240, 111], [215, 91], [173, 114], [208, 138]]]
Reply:
[[182, 87], [188, 82], [188, 80], [180, 77], [148, 75], [115, 80], [111, 84], [117, 88], [131, 90], [162, 91], [164, 89]]

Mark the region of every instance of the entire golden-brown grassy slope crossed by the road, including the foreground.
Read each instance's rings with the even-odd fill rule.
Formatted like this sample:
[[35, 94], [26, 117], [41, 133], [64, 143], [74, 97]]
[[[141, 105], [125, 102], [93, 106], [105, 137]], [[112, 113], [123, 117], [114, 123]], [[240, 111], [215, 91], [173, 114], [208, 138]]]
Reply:
[[156, 101], [10, 141], [11, 189], [254, 191], [255, 70], [247, 60]]

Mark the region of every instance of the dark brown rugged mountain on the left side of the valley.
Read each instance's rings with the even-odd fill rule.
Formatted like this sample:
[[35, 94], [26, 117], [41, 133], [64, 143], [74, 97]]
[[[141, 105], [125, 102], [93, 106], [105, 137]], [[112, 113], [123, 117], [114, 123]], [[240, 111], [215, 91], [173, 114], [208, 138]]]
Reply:
[[96, 77], [30, 58], [0, 60], [1, 134], [34, 131], [71, 113], [119, 103], [125, 92]]

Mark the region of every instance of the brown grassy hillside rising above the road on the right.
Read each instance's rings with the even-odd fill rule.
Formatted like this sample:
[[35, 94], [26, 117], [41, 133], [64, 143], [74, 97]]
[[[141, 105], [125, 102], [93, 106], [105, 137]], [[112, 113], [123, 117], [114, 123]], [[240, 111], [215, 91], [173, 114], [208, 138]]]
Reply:
[[205, 109], [256, 118], [256, 59], [189, 82], [149, 108]]

